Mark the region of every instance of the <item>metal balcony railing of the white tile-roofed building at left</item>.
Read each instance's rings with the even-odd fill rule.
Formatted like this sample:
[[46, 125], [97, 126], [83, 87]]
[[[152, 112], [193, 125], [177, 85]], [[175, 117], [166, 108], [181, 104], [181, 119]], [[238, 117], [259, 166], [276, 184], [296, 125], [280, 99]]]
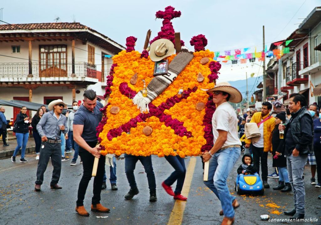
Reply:
[[[39, 62], [31, 63], [32, 77], [90, 77], [97, 78], [96, 65], [87, 62], [75, 62], [74, 74], [72, 63], [40, 65]], [[28, 62], [1, 62], [0, 78], [30, 77]]]

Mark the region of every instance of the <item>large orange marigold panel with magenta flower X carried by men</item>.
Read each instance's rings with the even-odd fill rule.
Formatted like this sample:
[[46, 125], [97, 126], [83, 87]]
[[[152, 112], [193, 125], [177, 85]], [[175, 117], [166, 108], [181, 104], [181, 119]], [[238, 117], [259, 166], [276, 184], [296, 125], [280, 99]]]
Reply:
[[[168, 7], [167, 7], [168, 8]], [[205, 38], [205, 37], [204, 37]], [[129, 38], [132, 41], [133, 38]], [[128, 47], [128, 46], [127, 46]], [[130, 43], [130, 47], [134, 45]], [[101, 154], [132, 154], [148, 156], [199, 155], [213, 146], [211, 119], [215, 105], [202, 89], [214, 87], [221, 65], [213, 61], [214, 53], [194, 52], [194, 58], [167, 89], [149, 104], [150, 111], [140, 113], [132, 98], [153, 79], [154, 62], [148, 53], [126, 49], [113, 57], [114, 64], [107, 77], [108, 104], [101, 109], [103, 120], [97, 127]], [[169, 63], [176, 54], [169, 56]], [[202, 62], [201, 59], [206, 63]], [[201, 74], [203, 81], [197, 80]], [[136, 83], [130, 82], [137, 76]], [[178, 91], [183, 93], [178, 95]], [[205, 108], [196, 105], [204, 104]], [[112, 107], [118, 107], [112, 113]], [[197, 109], [196, 109], [197, 108]], [[147, 136], [143, 129], [149, 126]]]

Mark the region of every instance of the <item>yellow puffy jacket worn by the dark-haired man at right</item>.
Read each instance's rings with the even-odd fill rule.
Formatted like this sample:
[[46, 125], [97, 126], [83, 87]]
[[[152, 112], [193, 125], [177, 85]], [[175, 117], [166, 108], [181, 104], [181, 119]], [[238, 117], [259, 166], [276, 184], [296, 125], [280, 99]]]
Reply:
[[[250, 123], [258, 124], [259, 122], [261, 122], [262, 119], [264, 120], [268, 116], [269, 115], [266, 115], [265, 117], [262, 118], [262, 112], [256, 112], [253, 114]], [[274, 127], [275, 127], [275, 118], [273, 116], [271, 116], [270, 119], [266, 120], [263, 123], [264, 152], [272, 151], [271, 140], [272, 140], [272, 131], [273, 131]], [[251, 140], [246, 138], [245, 143], [251, 144]]]

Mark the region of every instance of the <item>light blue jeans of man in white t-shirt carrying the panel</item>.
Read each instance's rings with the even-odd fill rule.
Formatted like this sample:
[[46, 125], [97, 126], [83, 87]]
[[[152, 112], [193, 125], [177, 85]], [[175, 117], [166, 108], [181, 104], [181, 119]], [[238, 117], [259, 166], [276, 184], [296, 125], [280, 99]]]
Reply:
[[239, 147], [217, 151], [209, 162], [208, 181], [204, 181], [204, 184], [221, 201], [224, 215], [228, 218], [234, 217], [235, 212], [232, 202], [235, 200], [235, 197], [230, 195], [226, 180], [240, 154], [241, 148]]

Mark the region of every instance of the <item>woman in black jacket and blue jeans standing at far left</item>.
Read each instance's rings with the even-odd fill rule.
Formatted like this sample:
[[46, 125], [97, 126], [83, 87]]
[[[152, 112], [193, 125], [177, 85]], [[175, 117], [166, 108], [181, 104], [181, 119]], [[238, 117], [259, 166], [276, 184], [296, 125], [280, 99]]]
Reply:
[[18, 154], [20, 148], [21, 150], [21, 159], [20, 162], [28, 162], [24, 159], [24, 153], [26, 152], [26, 146], [29, 138], [29, 125], [31, 123], [31, 120], [29, 120], [29, 117], [26, 114], [27, 107], [22, 106], [20, 113], [17, 115], [16, 118], [16, 126], [15, 126], [15, 133], [17, 137], [17, 147], [13, 152], [13, 156], [11, 157], [12, 162], [16, 162], [16, 155]]

